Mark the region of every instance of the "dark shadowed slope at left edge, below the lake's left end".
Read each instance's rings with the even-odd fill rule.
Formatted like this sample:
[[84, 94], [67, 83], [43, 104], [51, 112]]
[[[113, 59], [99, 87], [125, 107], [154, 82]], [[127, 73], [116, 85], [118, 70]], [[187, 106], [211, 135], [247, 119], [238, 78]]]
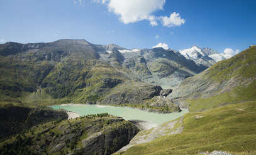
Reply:
[[0, 108], [0, 139], [16, 134], [23, 129], [30, 129], [38, 124], [67, 118], [67, 113], [64, 111], [55, 111], [53, 109], [19, 106]]

